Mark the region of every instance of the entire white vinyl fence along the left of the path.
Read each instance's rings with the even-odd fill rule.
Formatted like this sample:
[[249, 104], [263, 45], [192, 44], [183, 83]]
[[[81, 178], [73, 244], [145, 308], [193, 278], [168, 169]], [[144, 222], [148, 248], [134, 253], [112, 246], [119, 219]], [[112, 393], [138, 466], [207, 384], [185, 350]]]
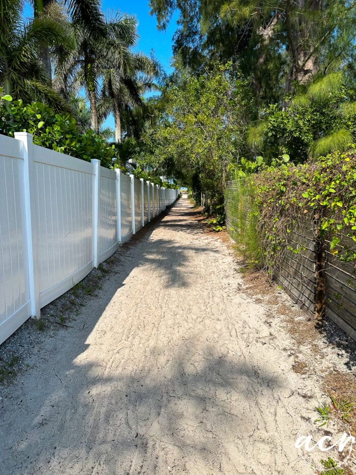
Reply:
[[171, 205], [165, 189], [0, 135], [0, 344]]

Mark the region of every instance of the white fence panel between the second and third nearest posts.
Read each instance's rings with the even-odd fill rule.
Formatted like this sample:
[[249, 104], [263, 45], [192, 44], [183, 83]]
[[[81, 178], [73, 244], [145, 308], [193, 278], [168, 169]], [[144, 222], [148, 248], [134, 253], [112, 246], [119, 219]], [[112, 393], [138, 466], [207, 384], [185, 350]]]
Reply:
[[105, 261], [118, 247], [116, 173], [100, 167], [99, 226], [98, 246], [99, 262]]

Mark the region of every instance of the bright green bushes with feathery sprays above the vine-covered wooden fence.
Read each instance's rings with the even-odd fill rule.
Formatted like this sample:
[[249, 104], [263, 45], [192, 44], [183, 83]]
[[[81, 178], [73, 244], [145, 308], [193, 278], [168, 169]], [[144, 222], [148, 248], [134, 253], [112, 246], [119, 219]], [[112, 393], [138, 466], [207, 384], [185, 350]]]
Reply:
[[270, 105], [249, 130], [250, 146], [267, 164], [283, 153], [302, 163], [310, 155], [316, 159], [346, 150], [356, 137], [356, 110], [344, 82], [341, 73], [333, 73], [312, 82], [285, 110]]

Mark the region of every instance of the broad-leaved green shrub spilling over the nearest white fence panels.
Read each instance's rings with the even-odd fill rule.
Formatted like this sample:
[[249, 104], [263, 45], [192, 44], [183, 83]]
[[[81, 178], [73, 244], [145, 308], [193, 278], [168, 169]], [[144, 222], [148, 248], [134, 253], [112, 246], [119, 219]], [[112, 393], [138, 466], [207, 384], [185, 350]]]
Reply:
[[114, 147], [99, 135], [80, 133], [70, 114], [55, 114], [40, 102], [24, 105], [18, 100], [10, 108], [0, 104], [0, 133], [13, 137], [19, 131], [32, 133], [36, 145], [86, 161], [95, 157], [103, 166], [111, 166], [115, 158]]

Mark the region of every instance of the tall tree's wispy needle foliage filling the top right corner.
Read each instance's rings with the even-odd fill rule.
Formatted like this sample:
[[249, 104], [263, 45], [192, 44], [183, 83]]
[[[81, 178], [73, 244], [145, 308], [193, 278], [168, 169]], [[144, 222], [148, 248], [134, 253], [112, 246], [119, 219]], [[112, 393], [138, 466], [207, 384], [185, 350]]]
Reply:
[[341, 68], [354, 76], [356, 13], [352, 2], [150, 0], [165, 29], [178, 12], [174, 65], [201, 74], [232, 61], [251, 79], [259, 106], [280, 103], [298, 84]]

